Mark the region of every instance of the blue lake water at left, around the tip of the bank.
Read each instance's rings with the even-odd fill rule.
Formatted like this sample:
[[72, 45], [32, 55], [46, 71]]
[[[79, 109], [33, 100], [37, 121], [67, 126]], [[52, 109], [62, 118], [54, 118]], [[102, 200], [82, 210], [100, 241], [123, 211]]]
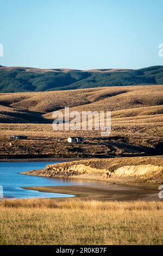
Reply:
[[[65, 186], [81, 184], [66, 179], [53, 179], [40, 176], [18, 174], [27, 170], [43, 169], [47, 164], [57, 162], [0, 162], [0, 186], [5, 198], [58, 198], [74, 197], [68, 194], [45, 193], [26, 190], [22, 187]], [[0, 188], [2, 188], [0, 187]], [[1, 190], [0, 190], [1, 192]]]

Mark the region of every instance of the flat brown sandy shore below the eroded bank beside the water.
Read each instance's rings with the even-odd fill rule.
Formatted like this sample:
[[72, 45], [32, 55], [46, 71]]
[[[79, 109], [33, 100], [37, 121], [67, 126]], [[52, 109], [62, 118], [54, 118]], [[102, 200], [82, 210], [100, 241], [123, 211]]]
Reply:
[[[40, 192], [50, 193], [64, 193], [73, 194], [76, 198], [85, 200], [102, 200], [102, 201], [160, 201], [158, 198], [157, 188], [147, 186], [133, 186], [117, 182], [115, 179], [109, 179], [107, 181], [100, 180], [100, 175], [95, 175], [94, 180], [90, 178], [89, 174], [83, 174], [77, 176], [75, 179], [79, 179], [84, 185], [71, 185], [71, 186], [48, 186], [48, 187], [25, 187], [29, 190], [37, 190]], [[76, 198], [71, 198], [74, 200]], [[63, 201], [67, 198], [55, 198], [54, 200]]]

